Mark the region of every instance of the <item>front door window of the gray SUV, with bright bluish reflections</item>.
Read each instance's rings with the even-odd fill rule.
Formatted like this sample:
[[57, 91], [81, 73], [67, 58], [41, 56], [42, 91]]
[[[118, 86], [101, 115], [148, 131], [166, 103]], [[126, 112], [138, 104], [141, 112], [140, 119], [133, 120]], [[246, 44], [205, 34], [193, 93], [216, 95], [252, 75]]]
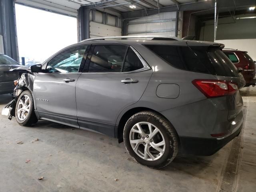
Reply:
[[77, 73], [87, 46], [65, 50], [50, 60], [46, 67], [48, 73]]

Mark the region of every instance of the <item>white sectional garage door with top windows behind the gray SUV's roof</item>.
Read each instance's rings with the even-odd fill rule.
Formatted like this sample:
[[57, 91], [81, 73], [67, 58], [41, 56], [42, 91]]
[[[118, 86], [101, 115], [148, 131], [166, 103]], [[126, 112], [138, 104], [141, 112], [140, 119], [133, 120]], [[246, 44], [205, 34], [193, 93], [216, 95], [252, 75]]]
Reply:
[[95, 11], [93, 18], [90, 12], [90, 38], [104, 36], [121, 36], [122, 24], [119, 16]]

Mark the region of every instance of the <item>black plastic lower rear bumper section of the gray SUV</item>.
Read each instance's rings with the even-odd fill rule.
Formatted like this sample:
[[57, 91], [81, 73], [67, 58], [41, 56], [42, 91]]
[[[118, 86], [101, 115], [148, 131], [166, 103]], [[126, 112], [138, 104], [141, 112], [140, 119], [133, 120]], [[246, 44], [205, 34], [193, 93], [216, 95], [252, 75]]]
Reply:
[[195, 138], [180, 137], [180, 150], [183, 154], [210, 156], [224, 147], [228, 142], [239, 135], [242, 125], [226, 138]]

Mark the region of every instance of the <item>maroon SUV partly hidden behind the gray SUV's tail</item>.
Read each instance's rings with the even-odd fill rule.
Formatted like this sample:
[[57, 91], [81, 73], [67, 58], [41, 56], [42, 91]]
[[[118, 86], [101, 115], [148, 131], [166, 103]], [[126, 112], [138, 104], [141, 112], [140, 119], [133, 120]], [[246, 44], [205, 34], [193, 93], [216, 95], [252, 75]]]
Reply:
[[247, 51], [235, 49], [223, 49], [226, 56], [234, 63], [237, 68], [242, 68], [242, 75], [246, 81], [246, 87], [256, 84], [255, 61], [247, 54]]

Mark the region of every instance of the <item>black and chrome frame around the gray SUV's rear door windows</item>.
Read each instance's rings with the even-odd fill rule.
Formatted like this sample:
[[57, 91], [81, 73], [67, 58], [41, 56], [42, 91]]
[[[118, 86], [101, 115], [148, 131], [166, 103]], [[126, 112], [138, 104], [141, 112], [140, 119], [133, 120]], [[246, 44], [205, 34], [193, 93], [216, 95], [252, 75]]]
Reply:
[[[93, 54], [94, 48], [97, 45], [123, 45], [126, 46], [126, 52], [124, 54], [124, 60], [122, 63], [122, 68], [120, 72], [88, 72], [89, 69], [89, 65], [90, 65], [90, 59], [91, 56]], [[127, 56], [127, 52], [128, 49], [131, 48], [132, 51], [136, 54], [136, 56], [139, 58], [140, 62], [142, 62], [143, 68], [140, 68], [138, 70], [134, 70], [134, 71], [129, 71], [129, 72], [122, 72], [123, 68], [124, 68], [124, 62], [126, 60], [126, 56]], [[87, 68], [87, 69], [86, 69]], [[90, 50], [87, 54], [86, 57], [86, 61], [84, 64], [84, 68], [82, 70], [82, 73], [88, 73], [88, 74], [127, 74], [127, 73], [136, 73], [136, 72], [141, 72], [141, 71], [145, 71], [145, 70], [150, 70], [150, 66], [148, 65], [148, 63], [146, 62], [146, 60], [139, 54], [139, 52], [132, 46], [128, 45], [128, 44], [121, 44], [121, 43], [94, 43], [91, 45]], [[86, 70], [86, 71], [85, 71]]]

